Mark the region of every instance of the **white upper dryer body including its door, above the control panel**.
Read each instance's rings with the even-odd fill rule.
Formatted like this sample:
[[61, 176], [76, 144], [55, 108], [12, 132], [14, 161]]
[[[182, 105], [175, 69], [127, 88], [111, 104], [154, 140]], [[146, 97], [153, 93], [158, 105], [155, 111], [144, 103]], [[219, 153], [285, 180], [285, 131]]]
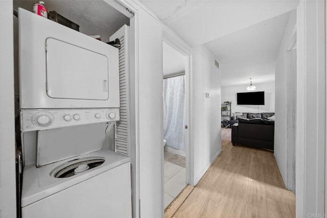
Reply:
[[21, 109], [118, 108], [118, 48], [19, 8]]

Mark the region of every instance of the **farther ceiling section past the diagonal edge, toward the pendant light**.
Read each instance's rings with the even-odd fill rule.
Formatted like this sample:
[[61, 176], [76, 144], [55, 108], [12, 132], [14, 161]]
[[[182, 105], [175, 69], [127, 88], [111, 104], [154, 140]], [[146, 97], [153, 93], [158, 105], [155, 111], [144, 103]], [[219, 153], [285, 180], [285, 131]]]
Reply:
[[222, 86], [267, 83], [275, 80], [275, 57], [290, 12], [205, 43], [219, 60]]

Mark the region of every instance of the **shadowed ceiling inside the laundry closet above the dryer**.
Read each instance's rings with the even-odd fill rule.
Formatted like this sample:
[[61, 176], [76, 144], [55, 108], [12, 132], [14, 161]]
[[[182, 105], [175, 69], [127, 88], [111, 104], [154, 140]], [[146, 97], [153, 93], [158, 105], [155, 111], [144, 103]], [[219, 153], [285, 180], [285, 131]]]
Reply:
[[[32, 11], [37, 1], [14, 0], [13, 6]], [[60, 1], [43, 0], [48, 11], [56, 11], [65, 18], [80, 25], [80, 32], [86, 35], [100, 35], [102, 41], [108, 42], [109, 37], [124, 24], [129, 24], [129, 18], [112, 8], [104, 1]]]

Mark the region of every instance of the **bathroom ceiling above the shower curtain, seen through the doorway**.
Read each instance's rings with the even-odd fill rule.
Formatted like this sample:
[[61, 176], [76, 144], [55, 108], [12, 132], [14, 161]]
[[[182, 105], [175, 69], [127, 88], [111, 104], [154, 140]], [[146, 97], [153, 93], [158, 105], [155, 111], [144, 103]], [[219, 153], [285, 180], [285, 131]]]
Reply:
[[162, 58], [164, 77], [185, 72], [185, 57], [165, 42], [162, 43]]

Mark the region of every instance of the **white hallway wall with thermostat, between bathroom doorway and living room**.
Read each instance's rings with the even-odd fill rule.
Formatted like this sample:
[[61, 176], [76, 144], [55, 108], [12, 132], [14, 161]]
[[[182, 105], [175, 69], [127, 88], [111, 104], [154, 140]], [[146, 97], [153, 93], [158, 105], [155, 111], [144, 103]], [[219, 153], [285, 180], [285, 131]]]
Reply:
[[[221, 152], [220, 70], [204, 46], [193, 48], [194, 185]], [[210, 98], [205, 97], [209, 93]], [[192, 137], [192, 135], [191, 135]]]

